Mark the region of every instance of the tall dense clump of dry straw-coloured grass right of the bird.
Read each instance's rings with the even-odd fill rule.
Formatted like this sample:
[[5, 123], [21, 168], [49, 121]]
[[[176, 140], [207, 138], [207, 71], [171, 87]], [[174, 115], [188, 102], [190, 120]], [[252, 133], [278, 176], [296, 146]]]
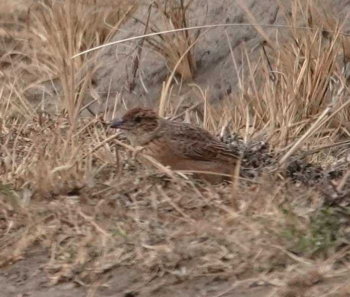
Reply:
[[[277, 35], [274, 43], [267, 40], [258, 63], [252, 63], [243, 48], [246, 69], [237, 68], [240, 94], [228, 99], [235, 104], [228, 112], [237, 128], [248, 124], [252, 131], [266, 130], [280, 147], [297, 141], [317, 121], [319, 125], [309, 131], [308, 145], [335, 141], [341, 134], [348, 135], [344, 71], [348, 37], [340, 34], [342, 24], [335, 17], [324, 17], [312, 2], [302, 6], [293, 1], [291, 12], [286, 13], [290, 33]], [[251, 17], [251, 21], [255, 20]], [[295, 29], [298, 22], [311, 29]], [[326, 108], [329, 115], [324, 119]]]

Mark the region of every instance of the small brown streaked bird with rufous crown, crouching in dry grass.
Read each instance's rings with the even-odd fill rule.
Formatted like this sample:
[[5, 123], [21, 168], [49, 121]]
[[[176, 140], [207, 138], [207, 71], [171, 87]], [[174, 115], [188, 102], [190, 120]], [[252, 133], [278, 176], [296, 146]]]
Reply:
[[110, 127], [124, 131], [131, 145], [143, 147], [142, 153], [164, 166], [201, 171], [194, 177], [212, 183], [233, 175], [239, 160], [235, 151], [207, 130], [161, 118], [151, 109], [135, 107]]

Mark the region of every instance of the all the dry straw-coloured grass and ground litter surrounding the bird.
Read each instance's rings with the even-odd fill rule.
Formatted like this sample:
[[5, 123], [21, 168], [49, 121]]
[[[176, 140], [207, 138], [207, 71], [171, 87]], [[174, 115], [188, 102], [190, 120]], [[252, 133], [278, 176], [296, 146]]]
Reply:
[[[348, 275], [349, 216], [343, 202], [350, 186], [343, 167], [338, 173], [345, 172], [346, 178], [330, 180], [318, 169], [324, 178], [317, 179], [307, 171], [313, 167], [301, 162], [309, 166], [308, 183], [295, 182], [291, 172], [281, 173], [277, 165], [281, 155], [273, 146], [250, 156], [259, 162], [265, 156], [273, 160], [259, 167], [257, 177], [242, 179], [236, 186], [202, 184], [161, 166], [144, 169], [125, 149], [127, 145], [114, 141], [121, 136], [111, 134], [104, 120], [80, 118], [80, 94], [89, 86], [91, 73], [84, 69], [90, 60], [68, 57], [106, 42], [116, 27], [99, 27], [108, 20], [106, 11], [93, 19], [81, 2], [69, 3], [37, 3], [39, 7], [29, 14], [30, 30], [23, 25], [23, 31], [16, 33], [30, 33], [30, 38], [25, 44], [11, 43], [13, 48], [1, 53], [7, 67], [0, 89], [0, 266], [20, 259], [37, 244], [50, 251], [44, 269], [53, 283], [73, 279], [89, 284], [115, 266], [134, 265], [151, 277], [172, 273], [180, 280], [233, 274], [285, 286], [288, 293], [301, 282], [287, 281], [293, 273], [313, 269], [319, 279]], [[299, 9], [305, 11], [299, 2], [293, 4], [288, 20], [295, 25]], [[184, 25], [186, 10], [180, 12], [178, 25], [173, 26]], [[111, 17], [123, 22], [127, 13], [129, 9]], [[310, 13], [314, 19], [318, 16], [313, 7], [308, 8]], [[67, 14], [70, 18], [63, 19]], [[322, 32], [291, 30], [290, 38], [270, 42], [269, 51], [257, 62], [250, 61], [243, 48], [249, 78], [241, 76], [240, 96], [227, 98], [227, 107], [219, 113], [208, 104], [207, 92], [199, 89], [198, 105], [205, 111], [199, 122], [217, 131], [233, 119], [233, 128], [246, 125], [243, 132], [250, 141], [268, 130], [271, 144], [282, 149], [282, 156], [299, 139], [303, 141], [297, 148], [332, 142], [348, 133], [348, 89], [341, 87], [345, 78], [338, 59], [346, 42], [341, 24], [317, 19], [321, 27], [334, 31], [331, 40], [325, 40]], [[91, 26], [95, 29], [89, 31]], [[187, 35], [181, 39], [186, 46], [177, 53], [185, 57], [191, 42]], [[36, 49], [22, 55], [28, 40], [35, 41]], [[180, 56], [171, 58], [171, 67], [181, 64]], [[19, 82], [31, 79], [32, 86], [39, 84], [38, 61], [45, 75], [60, 81], [67, 116], [49, 116], [29, 104]], [[189, 58], [186, 61], [187, 70], [178, 69], [190, 77], [194, 68]], [[21, 75], [24, 68], [27, 72]], [[333, 77], [339, 88], [330, 87]], [[179, 108], [166, 101], [170, 81], [171, 77], [160, 102], [162, 114]], [[329, 106], [334, 115], [320, 117]], [[11, 108], [20, 116], [14, 117]], [[184, 119], [186, 113], [176, 117]], [[317, 130], [304, 137], [315, 122], [320, 124]], [[327, 158], [319, 157], [318, 165]], [[332, 160], [344, 165], [339, 157]], [[341, 184], [338, 191], [337, 184]], [[341, 289], [348, 291], [345, 286]]]

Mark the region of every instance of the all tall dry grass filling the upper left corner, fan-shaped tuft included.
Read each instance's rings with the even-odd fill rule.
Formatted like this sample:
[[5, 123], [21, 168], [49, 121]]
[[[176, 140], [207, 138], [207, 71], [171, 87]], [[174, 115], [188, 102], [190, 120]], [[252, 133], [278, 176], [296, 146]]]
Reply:
[[[73, 127], [85, 91], [92, 88], [91, 75], [98, 64], [96, 53], [71, 57], [108, 42], [134, 8], [134, 2], [124, 0], [22, 2], [22, 10], [17, 12], [20, 17], [9, 17], [11, 22], [5, 24], [4, 44], [10, 41], [14, 49], [3, 54], [3, 59], [9, 60], [6, 74], [10, 93], [8, 102], [6, 98], [1, 102], [3, 106], [33, 116], [26, 100], [27, 90], [40, 84], [41, 104], [46, 96], [54, 101], [53, 93], [59, 94], [56, 105], [64, 107]], [[52, 89], [51, 93], [48, 89]]]

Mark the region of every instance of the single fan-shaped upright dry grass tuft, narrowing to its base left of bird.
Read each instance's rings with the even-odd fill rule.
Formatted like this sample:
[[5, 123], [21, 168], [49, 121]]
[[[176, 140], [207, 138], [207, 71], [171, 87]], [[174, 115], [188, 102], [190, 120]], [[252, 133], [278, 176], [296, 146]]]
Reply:
[[71, 125], [76, 123], [94, 71], [88, 56], [71, 57], [110, 41], [134, 7], [135, 3], [122, 0], [48, 0], [31, 7], [33, 43], [36, 52], [37, 48], [44, 49], [36, 56], [37, 63], [44, 66], [51, 79], [57, 77], [60, 81]]

